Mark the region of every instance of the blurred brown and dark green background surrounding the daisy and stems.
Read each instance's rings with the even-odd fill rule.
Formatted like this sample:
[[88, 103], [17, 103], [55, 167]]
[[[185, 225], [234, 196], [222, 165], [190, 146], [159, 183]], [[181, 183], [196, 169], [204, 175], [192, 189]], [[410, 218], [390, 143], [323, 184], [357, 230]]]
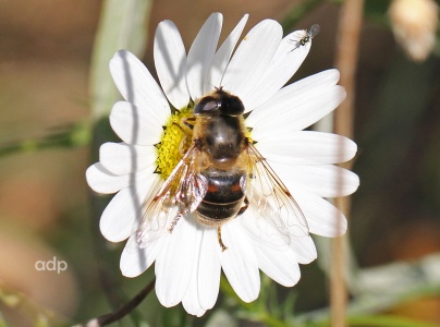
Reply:
[[[245, 32], [266, 17], [284, 22], [284, 34], [320, 25], [293, 78], [298, 80], [334, 66], [340, 2], [154, 1], [144, 61], [155, 74], [151, 43], [162, 20], [178, 25], [188, 50], [211, 12], [224, 15], [222, 39], [249, 13]], [[408, 59], [393, 37], [389, 4], [367, 0], [365, 5], [354, 126], [359, 149], [354, 171], [360, 187], [353, 196], [350, 238], [360, 268], [410, 263], [393, 270], [399, 278], [407, 267], [419, 269], [430, 255], [429, 271], [440, 276], [440, 49], [437, 41], [424, 62]], [[152, 278], [152, 269], [135, 279], [121, 276], [124, 244], [107, 242], [98, 231], [99, 216], [90, 210], [85, 170], [97, 153], [89, 146], [88, 83], [101, 5], [98, 0], [0, 0], [0, 326], [84, 322], [127, 301]], [[53, 258], [65, 262], [68, 269], [36, 269], [38, 261]], [[415, 271], [414, 280], [426, 277]], [[302, 276], [291, 290], [265, 281], [261, 300], [250, 305], [223, 287], [216, 310], [201, 319], [187, 316], [181, 306], [161, 308], [152, 292], [121, 326], [204, 326], [217, 320], [224, 326], [270, 325], [261, 312], [278, 319], [273, 322], [294, 322], [286, 315], [314, 313], [329, 304], [319, 265], [302, 266]], [[352, 325], [440, 325], [440, 281], [433, 280], [391, 305], [359, 314], [419, 323], [353, 319]]]

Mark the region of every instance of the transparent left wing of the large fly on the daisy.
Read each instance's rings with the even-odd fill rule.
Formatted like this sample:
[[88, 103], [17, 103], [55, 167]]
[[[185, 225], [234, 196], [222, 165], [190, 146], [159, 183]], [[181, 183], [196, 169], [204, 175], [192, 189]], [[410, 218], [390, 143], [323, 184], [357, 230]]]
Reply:
[[152, 201], [146, 205], [137, 229], [140, 247], [171, 232], [178, 220], [193, 213], [208, 189], [205, 177], [199, 174], [201, 154], [192, 145]]

